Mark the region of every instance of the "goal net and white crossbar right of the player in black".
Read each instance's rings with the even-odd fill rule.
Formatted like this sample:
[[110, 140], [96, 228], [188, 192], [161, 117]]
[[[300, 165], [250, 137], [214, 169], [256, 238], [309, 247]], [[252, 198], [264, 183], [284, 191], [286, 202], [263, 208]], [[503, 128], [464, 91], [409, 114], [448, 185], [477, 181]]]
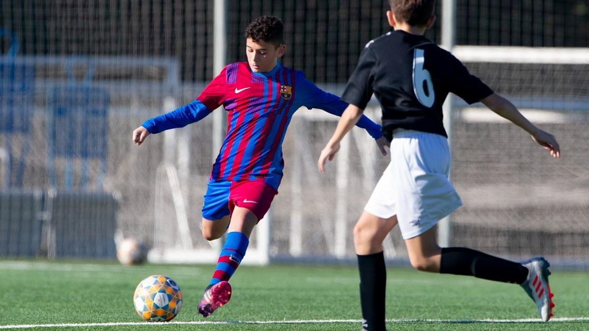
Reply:
[[452, 243], [502, 256], [589, 260], [589, 49], [456, 47], [456, 57], [555, 135], [554, 159], [480, 105], [456, 103], [452, 181], [464, 201]]

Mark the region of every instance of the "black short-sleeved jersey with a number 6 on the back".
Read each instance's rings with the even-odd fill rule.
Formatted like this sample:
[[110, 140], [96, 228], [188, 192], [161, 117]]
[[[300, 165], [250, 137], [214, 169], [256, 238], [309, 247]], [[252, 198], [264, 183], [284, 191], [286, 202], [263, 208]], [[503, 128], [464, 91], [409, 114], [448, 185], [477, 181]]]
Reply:
[[454, 55], [422, 35], [396, 30], [370, 41], [342, 100], [362, 109], [374, 92], [382, 107], [382, 130], [395, 128], [444, 135], [442, 104], [452, 92], [469, 104], [493, 91]]

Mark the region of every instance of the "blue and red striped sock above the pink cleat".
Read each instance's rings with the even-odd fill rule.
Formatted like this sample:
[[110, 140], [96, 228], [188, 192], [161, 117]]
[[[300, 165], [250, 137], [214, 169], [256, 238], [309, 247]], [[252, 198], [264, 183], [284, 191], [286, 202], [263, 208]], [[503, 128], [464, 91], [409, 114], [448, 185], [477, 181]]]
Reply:
[[213, 278], [209, 283], [209, 287], [221, 282], [221, 280], [229, 280], [233, 273], [241, 263], [241, 259], [246, 254], [247, 245], [250, 240], [241, 232], [227, 233], [227, 240], [221, 249], [221, 255], [217, 261], [217, 268], [213, 273]]

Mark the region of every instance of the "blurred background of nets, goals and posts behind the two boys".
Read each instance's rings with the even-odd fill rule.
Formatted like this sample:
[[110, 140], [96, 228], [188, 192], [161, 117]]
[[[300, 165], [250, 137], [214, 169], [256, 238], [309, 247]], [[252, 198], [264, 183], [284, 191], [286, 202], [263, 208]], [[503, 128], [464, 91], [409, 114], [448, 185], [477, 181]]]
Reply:
[[[214, 262], [219, 243], [201, 238], [200, 210], [224, 134], [219, 117], [141, 147], [131, 132], [194, 100], [219, 64], [245, 61], [243, 31], [260, 15], [284, 21], [284, 65], [341, 94], [364, 45], [390, 31], [387, 8], [375, 0], [3, 0], [0, 257], [115, 259], [117, 244], [133, 237], [152, 262]], [[442, 243], [587, 268], [589, 4], [438, 1], [436, 15], [426, 37], [562, 150], [552, 159], [481, 104], [452, 98], [451, 179], [464, 207], [445, 221]], [[379, 112], [373, 100], [366, 115], [380, 123]], [[295, 114], [279, 195], [244, 263], [355, 260], [353, 224], [388, 158], [356, 128], [319, 174], [337, 120]], [[397, 229], [385, 253], [406, 260]]]

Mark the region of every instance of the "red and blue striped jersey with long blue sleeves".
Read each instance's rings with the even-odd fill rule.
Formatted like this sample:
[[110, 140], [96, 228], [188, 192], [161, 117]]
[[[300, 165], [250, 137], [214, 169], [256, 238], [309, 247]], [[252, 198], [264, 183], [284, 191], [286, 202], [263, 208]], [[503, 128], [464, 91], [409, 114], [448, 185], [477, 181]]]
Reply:
[[[294, 112], [319, 108], [341, 115], [348, 104], [320, 90], [302, 71], [276, 62], [269, 72], [253, 72], [247, 62], [227, 65], [191, 104], [145, 121], [150, 133], [184, 127], [223, 105], [228, 112], [227, 134], [211, 171], [211, 181], [263, 178], [276, 190], [282, 180], [282, 142]], [[380, 125], [363, 117], [357, 124], [373, 138]]]

